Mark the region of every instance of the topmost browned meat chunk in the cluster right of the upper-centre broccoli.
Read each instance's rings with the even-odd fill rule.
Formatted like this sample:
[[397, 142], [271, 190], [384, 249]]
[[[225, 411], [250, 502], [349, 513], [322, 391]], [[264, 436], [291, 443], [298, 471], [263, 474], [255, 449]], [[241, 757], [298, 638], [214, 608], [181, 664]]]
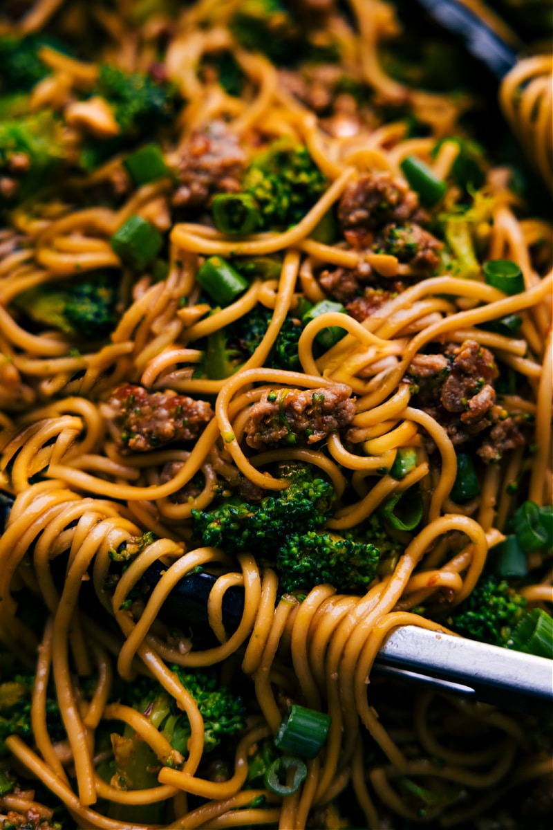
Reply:
[[390, 173], [365, 173], [347, 185], [338, 205], [338, 219], [355, 247], [371, 242], [371, 233], [389, 222], [404, 224], [415, 217], [419, 198]]

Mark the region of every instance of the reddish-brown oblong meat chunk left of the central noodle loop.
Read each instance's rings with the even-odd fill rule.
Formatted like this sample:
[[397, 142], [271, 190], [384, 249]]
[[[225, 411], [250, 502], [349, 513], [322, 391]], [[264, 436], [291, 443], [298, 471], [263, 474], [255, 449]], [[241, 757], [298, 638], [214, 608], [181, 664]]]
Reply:
[[213, 410], [206, 401], [172, 389], [149, 393], [142, 386], [123, 383], [104, 403], [102, 414], [119, 447], [148, 452], [175, 441], [194, 441], [211, 421]]

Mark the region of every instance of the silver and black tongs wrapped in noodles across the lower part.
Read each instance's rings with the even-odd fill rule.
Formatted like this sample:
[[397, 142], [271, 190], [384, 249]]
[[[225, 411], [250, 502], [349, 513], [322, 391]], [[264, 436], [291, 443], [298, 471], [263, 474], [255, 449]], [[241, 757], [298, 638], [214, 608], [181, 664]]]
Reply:
[[[13, 496], [0, 491], [0, 531]], [[151, 565], [143, 576], [145, 598], [162, 579], [167, 565]], [[160, 611], [164, 623], [209, 636], [207, 600], [216, 576], [188, 574], [167, 597]], [[244, 612], [244, 588], [230, 587], [222, 602], [226, 631], [235, 631]], [[553, 657], [553, 656], [552, 656]], [[540, 714], [553, 704], [553, 659], [533, 657], [417, 626], [401, 626], [386, 637], [375, 670], [434, 686], [441, 691], [492, 703], [505, 709]]]

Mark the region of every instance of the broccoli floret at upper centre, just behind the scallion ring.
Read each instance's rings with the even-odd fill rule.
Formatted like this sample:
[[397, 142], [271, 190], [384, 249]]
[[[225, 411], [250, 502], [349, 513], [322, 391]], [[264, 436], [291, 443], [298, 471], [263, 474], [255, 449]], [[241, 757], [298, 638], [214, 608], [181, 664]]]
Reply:
[[279, 139], [253, 159], [242, 188], [255, 199], [263, 228], [288, 227], [323, 195], [327, 179], [303, 144]]

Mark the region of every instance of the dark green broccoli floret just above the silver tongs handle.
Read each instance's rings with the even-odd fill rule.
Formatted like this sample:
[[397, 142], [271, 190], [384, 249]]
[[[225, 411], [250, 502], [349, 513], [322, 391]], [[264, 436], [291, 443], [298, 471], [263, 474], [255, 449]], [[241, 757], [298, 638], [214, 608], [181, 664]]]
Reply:
[[463, 637], [505, 646], [513, 628], [526, 616], [526, 599], [505, 579], [481, 577], [447, 625]]

